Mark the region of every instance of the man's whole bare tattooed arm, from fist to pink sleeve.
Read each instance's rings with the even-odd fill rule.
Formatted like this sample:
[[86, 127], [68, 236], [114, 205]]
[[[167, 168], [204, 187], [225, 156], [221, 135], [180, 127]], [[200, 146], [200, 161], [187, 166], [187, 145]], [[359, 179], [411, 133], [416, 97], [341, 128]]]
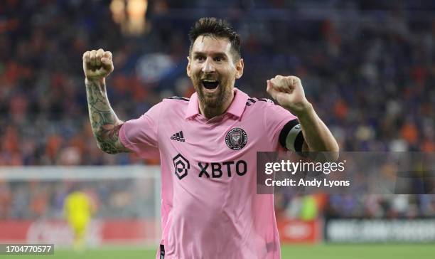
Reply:
[[114, 67], [112, 53], [103, 51], [87, 51], [83, 54], [83, 70], [89, 117], [97, 140], [98, 147], [109, 154], [129, 152], [119, 139], [119, 129], [124, 122], [119, 120], [110, 106], [106, 92], [105, 78], [112, 73]]

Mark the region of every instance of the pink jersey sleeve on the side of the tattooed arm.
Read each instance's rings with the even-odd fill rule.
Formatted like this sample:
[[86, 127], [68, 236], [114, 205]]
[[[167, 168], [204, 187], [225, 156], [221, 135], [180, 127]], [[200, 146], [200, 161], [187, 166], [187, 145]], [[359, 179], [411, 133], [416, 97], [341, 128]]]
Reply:
[[119, 130], [119, 139], [124, 147], [140, 157], [159, 157], [159, 117], [162, 105], [159, 102], [141, 117], [124, 122]]

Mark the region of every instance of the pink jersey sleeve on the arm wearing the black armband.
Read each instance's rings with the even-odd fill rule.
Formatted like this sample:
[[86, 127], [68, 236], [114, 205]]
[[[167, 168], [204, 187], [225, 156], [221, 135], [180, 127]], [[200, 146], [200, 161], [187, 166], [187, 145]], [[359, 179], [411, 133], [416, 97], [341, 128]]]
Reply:
[[[286, 137], [289, 133], [290, 125], [299, 125], [298, 118], [288, 110], [274, 102], [268, 101], [264, 112], [264, 125], [269, 132], [269, 138], [276, 147], [276, 150], [287, 148]], [[290, 128], [291, 129], [291, 128]], [[284, 139], [283, 139], [284, 138]], [[284, 140], [284, 142], [283, 142]]]

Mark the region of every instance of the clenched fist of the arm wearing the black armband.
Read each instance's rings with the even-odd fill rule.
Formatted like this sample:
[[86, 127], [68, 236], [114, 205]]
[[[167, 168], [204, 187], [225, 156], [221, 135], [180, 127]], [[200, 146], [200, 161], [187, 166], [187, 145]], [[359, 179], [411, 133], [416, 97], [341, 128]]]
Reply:
[[296, 116], [301, 115], [311, 105], [306, 100], [302, 83], [296, 76], [282, 76], [267, 80], [267, 93], [282, 107]]

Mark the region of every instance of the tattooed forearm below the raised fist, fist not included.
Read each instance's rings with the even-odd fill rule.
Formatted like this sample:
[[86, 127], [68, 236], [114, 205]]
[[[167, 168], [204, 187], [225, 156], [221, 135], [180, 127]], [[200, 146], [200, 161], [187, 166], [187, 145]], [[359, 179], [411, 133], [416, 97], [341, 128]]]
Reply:
[[85, 80], [89, 117], [98, 147], [109, 154], [129, 152], [119, 140], [122, 122], [110, 106], [104, 78]]

